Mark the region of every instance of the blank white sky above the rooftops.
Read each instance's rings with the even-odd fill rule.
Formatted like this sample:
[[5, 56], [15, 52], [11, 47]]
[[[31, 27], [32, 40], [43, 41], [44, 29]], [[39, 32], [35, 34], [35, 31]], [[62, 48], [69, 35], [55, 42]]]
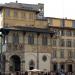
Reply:
[[[44, 16], [75, 19], [75, 0], [17, 0], [18, 3], [44, 4]], [[0, 3], [16, 2], [16, 0], [0, 0]]]

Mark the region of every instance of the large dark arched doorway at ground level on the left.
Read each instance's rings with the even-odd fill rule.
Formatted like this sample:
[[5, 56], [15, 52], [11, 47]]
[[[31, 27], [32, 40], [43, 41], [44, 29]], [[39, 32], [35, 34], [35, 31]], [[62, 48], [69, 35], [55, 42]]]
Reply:
[[13, 55], [10, 58], [10, 71], [20, 71], [20, 65], [21, 65], [21, 61], [20, 61], [20, 57], [17, 55]]

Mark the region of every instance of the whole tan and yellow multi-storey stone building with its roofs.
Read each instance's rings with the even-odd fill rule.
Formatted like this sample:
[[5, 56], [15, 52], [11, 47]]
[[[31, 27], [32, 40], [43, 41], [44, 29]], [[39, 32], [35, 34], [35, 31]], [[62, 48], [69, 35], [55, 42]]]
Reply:
[[43, 4], [0, 5], [4, 69], [75, 71], [75, 20], [44, 17]]

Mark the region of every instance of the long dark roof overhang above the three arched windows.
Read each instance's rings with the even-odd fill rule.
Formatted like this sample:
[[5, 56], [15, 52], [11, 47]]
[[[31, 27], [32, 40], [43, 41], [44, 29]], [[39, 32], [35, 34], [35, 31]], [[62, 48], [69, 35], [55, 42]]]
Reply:
[[15, 28], [1, 28], [0, 32], [3, 34], [7, 34], [10, 31], [21, 31], [21, 32], [34, 32], [34, 33], [44, 33], [44, 34], [52, 34], [55, 32], [50, 31], [48, 28], [35, 28], [35, 27], [15, 27]]

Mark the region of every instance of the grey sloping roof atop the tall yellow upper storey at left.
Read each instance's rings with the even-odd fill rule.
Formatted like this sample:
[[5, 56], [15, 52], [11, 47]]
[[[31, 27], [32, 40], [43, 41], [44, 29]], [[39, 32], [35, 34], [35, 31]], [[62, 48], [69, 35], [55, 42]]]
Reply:
[[0, 7], [23, 9], [23, 10], [39, 12], [39, 5], [37, 4], [23, 4], [23, 3], [10, 2], [5, 4], [0, 4]]

